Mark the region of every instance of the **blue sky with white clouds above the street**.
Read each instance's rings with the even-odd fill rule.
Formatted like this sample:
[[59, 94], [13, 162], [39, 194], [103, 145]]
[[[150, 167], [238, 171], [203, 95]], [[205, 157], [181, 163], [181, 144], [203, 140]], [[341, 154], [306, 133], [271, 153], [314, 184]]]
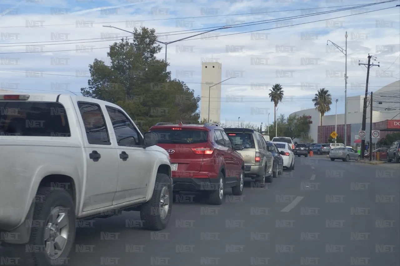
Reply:
[[[2, 0], [0, 70], [7, 71], [0, 71], [0, 88], [18, 88], [21, 91], [69, 90], [79, 93], [80, 88], [87, 85], [88, 64], [94, 58], [108, 62], [107, 47], [114, 42], [110, 40], [111, 37], [118, 39], [129, 35], [102, 25], [125, 30], [133, 30], [134, 26], [155, 28], [157, 33], [169, 32], [169, 35], [159, 34], [162, 35], [160, 40], [173, 41], [193, 35], [187, 32], [194, 29], [314, 14], [346, 8], [335, 6], [369, 3], [378, 1]], [[212, 38], [195, 37], [197, 40], [170, 44], [167, 54], [170, 64], [168, 70], [173, 78], [185, 81], [194, 89], [196, 95], [200, 95], [202, 60], [210, 61], [213, 58], [214, 61], [221, 62], [222, 79], [233, 73], [238, 75], [222, 85], [223, 123], [225, 119], [236, 122], [237, 117], [241, 117], [243, 122], [266, 123], [266, 115], [252, 114], [251, 107], [268, 108], [273, 115], [268, 89], [274, 83], [280, 83], [285, 91], [278, 113], [289, 115], [294, 111], [312, 108], [311, 99], [316, 90], [322, 87], [329, 89], [333, 99], [339, 99], [338, 113], [343, 113], [344, 55], [335, 47], [327, 46], [326, 41], [332, 40], [344, 48], [344, 34], [348, 32], [348, 96], [361, 95], [365, 91], [366, 68], [358, 66], [358, 60], [366, 63], [368, 53], [376, 56], [378, 60], [374, 63], [379, 61], [380, 67], [371, 69], [369, 85], [372, 91], [376, 91], [400, 78], [400, 8], [345, 18], [335, 17], [388, 8], [396, 4], [400, 2], [218, 30], [207, 35]], [[310, 9], [294, 11], [305, 8]], [[266, 13], [232, 16], [254, 12]], [[214, 17], [204, 17], [213, 15]], [[277, 28], [316, 20], [326, 21]], [[276, 29], [259, 31], [253, 35], [244, 33], [221, 36], [269, 28]], [[97, 40], [79, 41], [90, 38]], [[227, 51], [227, 46], [231, 51], [237, 52]], [[77, 48], [87, 50], [75, 51]], [[73, 51], [52, 52], [58, 50]], [[40, 53], [9, 54], [27, 51]], [[163, 49], [159, 58], [164, 58], [164, 52]], [[250, 86], [251, 83], [259, 84], [258, 90]], [[232, 98], [236, 101], [227, 101]], [[334, 106], [332, 109], [334, 112]]]

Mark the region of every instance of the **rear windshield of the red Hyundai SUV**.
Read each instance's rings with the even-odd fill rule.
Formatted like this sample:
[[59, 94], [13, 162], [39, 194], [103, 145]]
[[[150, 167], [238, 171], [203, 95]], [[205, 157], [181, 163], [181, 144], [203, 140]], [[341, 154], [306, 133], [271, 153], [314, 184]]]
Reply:
[[208, 141], [208, 132], [193, 129], [153, 129], [150, 132], [157, 133], [160, 144], [192, 144]]

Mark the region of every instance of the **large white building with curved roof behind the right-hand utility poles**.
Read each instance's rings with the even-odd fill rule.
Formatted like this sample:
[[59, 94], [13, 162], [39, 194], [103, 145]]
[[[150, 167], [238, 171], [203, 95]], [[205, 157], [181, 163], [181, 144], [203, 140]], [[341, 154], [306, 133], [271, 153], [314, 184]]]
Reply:
[[[381, 101], [381, 103], [378, 103]], [[370, 129], [370, 97], [368, 96], [366, 136], [369, 139]], [[364, 95], [347, 97], [347, 145], [353, 145], [358, 139], [358, 131], [362, 126], [362, 109], [364, 105]], [[332, 99], [331, 109], [335, 110], [335, 102]], [[310, 121], [310, 132], [306, 134], [314, 139], [314, 142], [326, 143], [330, 133], [335, 130], [335, 114], [322, 117], [322, 127], [320, 126], [320, 113], [315, 108], [294, 112], [290, 115], [306, 115]], [[337, 133], [344, 139], [344, 113], [337, 114]], [[373, 93], [372, 123], [374, 130], [382, 130], [380, 137], [397, 131], [396, 128], [388, 128], [388, 125], [398, 125], [396, 120], [400, 119], [400, 81], [390, 83]], [[387, 121], [388, 120], [388, 121]], [[386, 122], [387, 121], [387, 122]], [[390, 121], [394, 121], [393, 123]], [[390, 126], [389, 126], [390, 127]], [[375, 139], [373, 139], [374, 141]], [[296, 139], [295, 141], [302, 141]]]

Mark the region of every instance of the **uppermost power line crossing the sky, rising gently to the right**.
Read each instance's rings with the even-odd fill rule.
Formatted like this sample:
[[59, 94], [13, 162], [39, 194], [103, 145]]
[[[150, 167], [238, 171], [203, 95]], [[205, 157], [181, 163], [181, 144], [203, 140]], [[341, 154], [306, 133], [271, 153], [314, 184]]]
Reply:
[[[386, 3], [386, 2], [384, 2], [384, 3]], [[195, 17], [181, 17], [181, 18], [158, 18], [158, 19], [151, 19], [151, 20], [129, 20], [129, 21], [130, 22], [147, 22], [147, 21], [162, 21], [162, 20], [183, 20], [183, 19], [188, 19], [188, 18], [212, 18], [212, 17], [225, 17], [225, 16], [243, 16], [243, 15], [290, 12], [290, 11], [301, 11], [301, 10], [314, 10], [314, 9], [324, 9], [324, 8], [337, 8], [337, 7], [346, 7], [346, 6], [363, 6], [363, 5], [364, 4], [342, 5], [342, 6], [327, 6], [327, 7], [321, 7], [321, 8], [300, 8], [300, 9], [290, 9], [290, 10], [276, 10], [276, 11], [254, 12], [254, 13], [250, 12], [250, 13], [228, 14], [228, 15], [210, 15], [210, 16], [195, 16]], [[93, 22], [93, 24], [123, 23], [123, 22], [126, 22], [126, 20], [124, 20], [124, 21]], [[43, 27], [46, 27], [46, 26], [69, 26], [69, 25], [76, 25], [76, 23], [50, 24], [50, 25], [43, 25]], [[2, 26], [0, 28], [26, 28], [26, 26]]]

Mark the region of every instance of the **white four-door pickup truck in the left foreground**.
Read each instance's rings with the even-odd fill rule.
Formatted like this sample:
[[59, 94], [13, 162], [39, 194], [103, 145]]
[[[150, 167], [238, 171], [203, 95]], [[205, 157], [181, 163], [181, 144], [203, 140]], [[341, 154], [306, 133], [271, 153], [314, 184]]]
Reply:
[[150, 230], [164, 229], [173, 185], [170, 157], [156, 144], [156, 133], [142, 135], [106, 101], [0, 93], [0, 257], [68, 264], [76, 219], [122, 210], [140, 211]]

